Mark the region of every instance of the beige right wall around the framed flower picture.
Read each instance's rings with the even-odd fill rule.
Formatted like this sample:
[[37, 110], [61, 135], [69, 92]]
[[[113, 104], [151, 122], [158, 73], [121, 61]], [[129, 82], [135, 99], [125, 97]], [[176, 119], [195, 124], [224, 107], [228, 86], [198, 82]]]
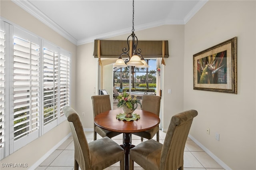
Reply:
[[[198, 110], [190, 134], [234, 170], [256, 169], [255, 2], [208, 1], [185, 25], [184, 110]], [[235, 36], [238, 94], [193, 90], [193, 54]]]

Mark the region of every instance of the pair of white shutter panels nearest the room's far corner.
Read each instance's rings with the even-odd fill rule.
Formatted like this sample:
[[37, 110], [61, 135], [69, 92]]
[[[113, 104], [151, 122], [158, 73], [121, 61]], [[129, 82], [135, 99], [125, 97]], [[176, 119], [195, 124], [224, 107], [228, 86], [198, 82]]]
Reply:
[[70, 53], [44, 42], [44, 132], [65, 120], [61, 108], [69, 105]]

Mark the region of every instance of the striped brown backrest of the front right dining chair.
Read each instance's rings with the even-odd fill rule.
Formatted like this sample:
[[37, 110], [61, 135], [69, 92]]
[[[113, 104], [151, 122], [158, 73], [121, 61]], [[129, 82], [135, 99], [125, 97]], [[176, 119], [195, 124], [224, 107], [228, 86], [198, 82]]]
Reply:
[[160, 158], [160, 170], [176, 170], [183, 166], [183, 154], [193, 118], [197, 111], [189, 110], [174, 115], [166, 132]]

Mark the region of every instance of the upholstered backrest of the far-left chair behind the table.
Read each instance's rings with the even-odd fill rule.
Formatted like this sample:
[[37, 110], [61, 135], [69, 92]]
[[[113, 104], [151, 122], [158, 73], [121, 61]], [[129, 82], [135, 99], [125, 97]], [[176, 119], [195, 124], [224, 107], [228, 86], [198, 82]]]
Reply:
[[110, 95], [92, 96], [92, 109], [94, 117], [99, 113], [110, 111]]

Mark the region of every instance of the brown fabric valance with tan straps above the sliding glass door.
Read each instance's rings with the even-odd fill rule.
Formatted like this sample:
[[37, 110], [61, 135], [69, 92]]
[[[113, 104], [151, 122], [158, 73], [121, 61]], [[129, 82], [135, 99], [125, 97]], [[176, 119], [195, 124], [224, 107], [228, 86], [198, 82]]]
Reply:
[[[162, 45], [164, 44], [164, 48]], [[94, 40], [94, 58], [98, 58], [98, 51], [100, 58], [118, 58], [122, 49], [128, 49], [127, 41], [125, 40], [100, 40], [100, 48], [98, 49], [98, 40]], [[168, 40], [164, 41], [138, 41], [137, 49], [141, 49], [141, 55], [144, 58], [160, 58], [162, 50], [164, 49], [164, 58], [169, 57]]]

